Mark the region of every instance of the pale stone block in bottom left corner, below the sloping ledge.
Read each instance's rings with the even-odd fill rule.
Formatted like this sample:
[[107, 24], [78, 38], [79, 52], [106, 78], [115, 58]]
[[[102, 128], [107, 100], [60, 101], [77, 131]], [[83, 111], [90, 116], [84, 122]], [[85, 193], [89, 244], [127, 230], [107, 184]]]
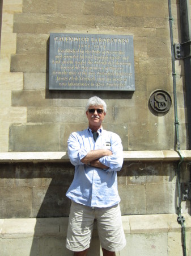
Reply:
[[20, 255], [30, 255], [36, 256], [39, 254], [38, 251], [38, 239], [37, 238], [15, 238], [15, 239], [1, 239], [1, 255], [8, 256], [20, 256]]

